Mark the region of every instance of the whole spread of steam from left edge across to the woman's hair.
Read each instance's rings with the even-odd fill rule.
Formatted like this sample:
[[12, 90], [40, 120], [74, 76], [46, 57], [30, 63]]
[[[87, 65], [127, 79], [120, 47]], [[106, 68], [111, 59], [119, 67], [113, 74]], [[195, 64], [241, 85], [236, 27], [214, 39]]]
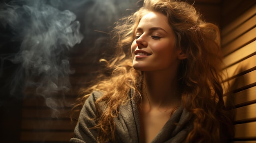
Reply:
[[0, 43], [0, 50], [16, 43], [10, 46], [16, 49], [13, 53], [0, 53], [0, 77], [4, 63], [20, 66], [13, 71], [10, 94], [15, 96], [20, 86], [36, 88], [47, 106], [58, 112], [57, 107], [65, 105], [55, 95], [63, 93], [65, 98], [64, 93], [72, 88], [69, 75], [75, 72], [70, 69], [68, 51], [78, 45], [84, 48], [84, 55], [101, 54], [106, 49], [99, 41], [106, 41], [114, 22], [135, 12], [137, 1], [15, 0], [0, 5], [0, 28], [9, 32], [9, 40]]

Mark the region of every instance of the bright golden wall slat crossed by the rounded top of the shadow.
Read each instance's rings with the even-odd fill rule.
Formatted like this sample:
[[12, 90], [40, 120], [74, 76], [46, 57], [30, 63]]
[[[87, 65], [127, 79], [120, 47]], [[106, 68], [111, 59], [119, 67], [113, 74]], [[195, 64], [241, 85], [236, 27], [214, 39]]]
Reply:
[[234, 64], [233, 66], [230, 66], [222, 71], [223, 75], [222, 78], [224, 80], [227, 80], [228, 78], [232, 78], [234, 76], [237, 76], [238, 74], [253, 69], [256, 67], [256, 55], [253, 55], [252, 57], [249, 57], [237, 64]]

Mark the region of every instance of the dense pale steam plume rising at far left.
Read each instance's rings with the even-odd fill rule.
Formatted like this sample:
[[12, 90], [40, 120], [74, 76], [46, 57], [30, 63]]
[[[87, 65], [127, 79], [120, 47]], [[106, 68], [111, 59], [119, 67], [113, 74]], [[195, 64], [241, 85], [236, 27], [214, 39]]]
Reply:
[[80, 23], [71, 11], [60, 11], [44, 0], [11, 2], [0, 11], [2, 26], [14, 33], [12, 40], [22, 41], [20, 50], [13, 55], [3, 56], [20, 64], [11, 85], [15, 93], [17, 81], [25, 76], [26, 86], [36, 87], [36, 93], [45, 97], [50, 108], [58, 101], [52, 95], [70, 88], [68, 75], [74, 73], [65, 56], [65, 51], [83, 39], [79, 32]]

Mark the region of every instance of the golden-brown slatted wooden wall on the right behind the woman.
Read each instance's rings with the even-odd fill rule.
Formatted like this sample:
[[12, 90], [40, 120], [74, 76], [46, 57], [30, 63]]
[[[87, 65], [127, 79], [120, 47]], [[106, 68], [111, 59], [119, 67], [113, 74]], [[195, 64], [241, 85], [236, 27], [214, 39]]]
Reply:
[[236, 107], [233, 143], [256, 143], [256, 0], [225, 0], [221, 14], [227, 100]]

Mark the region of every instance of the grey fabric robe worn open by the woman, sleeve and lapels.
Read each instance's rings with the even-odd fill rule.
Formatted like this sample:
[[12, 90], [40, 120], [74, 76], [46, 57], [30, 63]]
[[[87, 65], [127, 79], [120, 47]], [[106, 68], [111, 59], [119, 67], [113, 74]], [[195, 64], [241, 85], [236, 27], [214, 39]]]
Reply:
[[[70, 143], [97, 143], [97, 129], [88, 128], [96, 125], [90, 119], [96, 116], [95, 101], [101, 96], [102, 93], [96, 91], [85, 101], [74, 130], [74, 138], [70, 139]], [[118, 117], [114, 118], [117, 142], [138, 143], [140, 120], [135, 101], [120, 106], [119, 112]], [[189, 112], [180, 106], [151, 143], [182, 143], [192, 127], [189, 119]]]

